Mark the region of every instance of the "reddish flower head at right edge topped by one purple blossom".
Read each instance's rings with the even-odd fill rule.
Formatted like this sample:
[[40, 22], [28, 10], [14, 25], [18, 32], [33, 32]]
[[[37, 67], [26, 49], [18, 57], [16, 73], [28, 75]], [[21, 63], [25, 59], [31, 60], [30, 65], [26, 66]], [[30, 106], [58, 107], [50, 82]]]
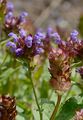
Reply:
[[58, 44], [58, 47], [62, 49], [68, 56], [72, 58], [83, 58], [83, 40], [78, 39], [78, 32], [76, 30], [71, 32], [67, 41], [58, 40], [56, 43]]

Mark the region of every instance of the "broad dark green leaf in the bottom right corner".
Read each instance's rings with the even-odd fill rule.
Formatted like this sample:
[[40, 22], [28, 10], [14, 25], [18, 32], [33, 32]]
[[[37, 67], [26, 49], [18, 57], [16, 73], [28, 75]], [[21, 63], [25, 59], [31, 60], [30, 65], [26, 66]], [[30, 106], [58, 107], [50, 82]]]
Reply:
[[77, 100], [73, 97], [66, 101], [63, 105], [56, 120], [71, 120], [75, 115], [76, 110], [83, 108], [83, 104], [78, 104]]

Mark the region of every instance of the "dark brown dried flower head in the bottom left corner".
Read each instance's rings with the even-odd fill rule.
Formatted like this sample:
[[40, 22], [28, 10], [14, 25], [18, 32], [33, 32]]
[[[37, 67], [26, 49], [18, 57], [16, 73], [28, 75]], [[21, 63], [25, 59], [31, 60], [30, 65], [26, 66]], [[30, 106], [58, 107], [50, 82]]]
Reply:
[[15, 120], [16, 118], [15, 98], [9, 96], [0, 97], [0, 120]]

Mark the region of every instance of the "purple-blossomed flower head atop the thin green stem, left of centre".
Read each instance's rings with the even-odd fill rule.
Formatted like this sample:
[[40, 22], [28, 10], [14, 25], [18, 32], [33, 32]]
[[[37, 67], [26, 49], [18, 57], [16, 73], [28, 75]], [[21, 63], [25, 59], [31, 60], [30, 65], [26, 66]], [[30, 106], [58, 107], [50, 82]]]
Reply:
[[10, 48], [10, 51], [15, 53], [16, 56], [23, 55], [31, 58], [34, 55], [44, 52], [43, 33], [37, 32], [34, 36], [32, 36], [31, 34], [27, 35], [24, 29], [20, 29], [19, 36], [13, 32], [9, 33], [9, 36], [13, 38], [13, 41], [8, 41], [6, 46]]

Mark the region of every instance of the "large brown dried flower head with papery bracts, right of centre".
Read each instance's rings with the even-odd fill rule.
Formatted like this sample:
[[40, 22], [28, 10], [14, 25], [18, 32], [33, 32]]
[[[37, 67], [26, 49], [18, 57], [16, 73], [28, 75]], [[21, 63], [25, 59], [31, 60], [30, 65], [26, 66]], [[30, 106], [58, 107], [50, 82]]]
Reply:
[[59, 91], [70, 88], [70, 58], [61, 49], [53, 49], [49, 54], [51, 73], [50, 84]]

